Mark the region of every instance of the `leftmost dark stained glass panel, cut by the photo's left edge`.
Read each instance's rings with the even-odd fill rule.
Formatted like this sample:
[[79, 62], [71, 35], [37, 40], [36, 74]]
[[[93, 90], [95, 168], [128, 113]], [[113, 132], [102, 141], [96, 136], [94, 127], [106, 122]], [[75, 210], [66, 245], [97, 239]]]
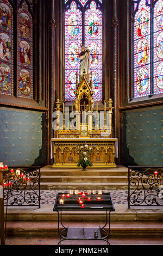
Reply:
[[0, 1], [0, 93], [13, 95], [13, 10]]

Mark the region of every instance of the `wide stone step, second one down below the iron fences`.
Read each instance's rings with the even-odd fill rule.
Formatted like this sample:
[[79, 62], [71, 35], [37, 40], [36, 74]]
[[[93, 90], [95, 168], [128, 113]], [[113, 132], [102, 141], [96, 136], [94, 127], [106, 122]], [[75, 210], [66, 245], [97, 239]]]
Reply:
[[[103, 222], [64, 222], [67, 227], [99, 227], [103, 226]], [[62, 230], [62, 228], [60, 227]], [[106, 226], [108, 231], [109, 225]], [[58, 235], [58, 222], [57, 221], [15, 221], [7, 222], [7, 235], [46, 235], [46, 236], [59, 236]], [[163, 236], [163, 223], [162, 222], [131, 222], [131, 221], [112, 221], [110, 236]]]

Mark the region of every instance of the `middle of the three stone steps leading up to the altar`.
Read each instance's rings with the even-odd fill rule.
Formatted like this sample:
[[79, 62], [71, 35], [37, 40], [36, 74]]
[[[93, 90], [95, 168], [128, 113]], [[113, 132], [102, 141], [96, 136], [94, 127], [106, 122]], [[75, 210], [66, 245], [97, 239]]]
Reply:
[[126, 182], [127, 176], [41, 176], [41, 182]]

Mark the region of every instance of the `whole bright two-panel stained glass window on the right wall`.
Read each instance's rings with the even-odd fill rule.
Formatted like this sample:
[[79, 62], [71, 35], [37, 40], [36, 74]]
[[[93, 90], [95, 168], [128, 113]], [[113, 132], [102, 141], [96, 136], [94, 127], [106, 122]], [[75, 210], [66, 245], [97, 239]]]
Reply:
[[163, 2], [133, 1], [133, 96], [163, 93]]

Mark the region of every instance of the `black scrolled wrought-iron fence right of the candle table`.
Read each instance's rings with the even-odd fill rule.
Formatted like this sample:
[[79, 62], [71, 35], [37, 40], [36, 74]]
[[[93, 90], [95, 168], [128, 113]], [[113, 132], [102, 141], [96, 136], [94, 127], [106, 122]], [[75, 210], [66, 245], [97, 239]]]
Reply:
[[163, 166], [128, 166], [130, 206], [163, 206]]

